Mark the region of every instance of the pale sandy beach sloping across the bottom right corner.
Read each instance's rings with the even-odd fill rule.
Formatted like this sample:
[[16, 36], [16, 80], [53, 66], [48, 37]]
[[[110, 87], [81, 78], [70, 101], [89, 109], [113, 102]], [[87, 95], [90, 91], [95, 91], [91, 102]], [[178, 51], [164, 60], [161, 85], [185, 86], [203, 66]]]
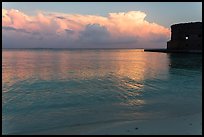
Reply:
[[56, 135], [202, 135], [202, 113], [165, 119], [77, 125], [32, 134]]

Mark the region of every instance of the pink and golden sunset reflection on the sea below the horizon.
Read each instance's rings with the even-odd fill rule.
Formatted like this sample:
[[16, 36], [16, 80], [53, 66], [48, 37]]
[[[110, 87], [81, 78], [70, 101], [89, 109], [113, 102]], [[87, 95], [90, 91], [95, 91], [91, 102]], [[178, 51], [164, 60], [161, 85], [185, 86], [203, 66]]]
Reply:
[[[144, 86], [145, 77], [151, 79], [151, 77], [156, 77], [158, 72], [167, 73], [168, 71], [169, 60], [166, 54], [160, 54], [161, 63], [158, 64], [154, 61], [156, 58], [150, 57], [150, 53], [144, 53], [143, 50], [124, 51], [4, 51], [3, 82], [12, 85], [15, 81], [27, 79], [35, 81], [35, 79], [75, 78], [81, 80], [110, 78], [114, 81], [114, 77], [117, 77], [120, 79], [116, 81], [118, 85], [139, 90]], [[157, 71], [151, 71], [152, 68]]]

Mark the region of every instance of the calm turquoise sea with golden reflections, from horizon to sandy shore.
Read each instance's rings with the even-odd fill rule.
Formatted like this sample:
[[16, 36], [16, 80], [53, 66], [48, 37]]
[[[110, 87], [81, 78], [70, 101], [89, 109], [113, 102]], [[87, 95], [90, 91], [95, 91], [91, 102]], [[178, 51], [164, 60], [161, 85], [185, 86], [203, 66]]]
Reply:
[[135, 49], [2, 53], [2, 134], [202, 111], [201, 54]]

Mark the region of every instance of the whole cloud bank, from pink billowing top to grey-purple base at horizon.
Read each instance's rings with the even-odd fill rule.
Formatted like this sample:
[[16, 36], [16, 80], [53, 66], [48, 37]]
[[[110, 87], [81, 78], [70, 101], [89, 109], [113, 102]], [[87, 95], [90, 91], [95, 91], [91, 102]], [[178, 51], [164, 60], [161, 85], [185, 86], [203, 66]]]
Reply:
[[97, 15], [2, 9], [3, 48], [165, 48], [170, 30], [141, 11]]

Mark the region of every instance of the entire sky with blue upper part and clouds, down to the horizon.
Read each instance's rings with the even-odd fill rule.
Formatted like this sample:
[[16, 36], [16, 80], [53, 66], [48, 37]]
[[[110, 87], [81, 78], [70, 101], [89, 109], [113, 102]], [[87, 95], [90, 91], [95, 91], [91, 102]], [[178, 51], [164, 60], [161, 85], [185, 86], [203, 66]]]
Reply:
[[3, 2], [3, 48], [166, 48], [202, 2]]

